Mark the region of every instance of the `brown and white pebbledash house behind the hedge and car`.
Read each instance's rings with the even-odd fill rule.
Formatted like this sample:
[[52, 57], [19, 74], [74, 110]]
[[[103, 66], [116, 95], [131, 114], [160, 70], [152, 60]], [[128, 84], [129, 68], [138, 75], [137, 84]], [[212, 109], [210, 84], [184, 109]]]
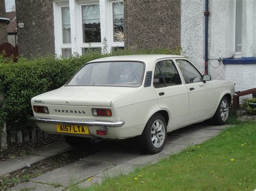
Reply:
[[256, 87], [255, 12], [255, 0], [16, 0], [19, 53], [86, 54], [104, 39], [107, 51], [181, 47], [245, 90]]

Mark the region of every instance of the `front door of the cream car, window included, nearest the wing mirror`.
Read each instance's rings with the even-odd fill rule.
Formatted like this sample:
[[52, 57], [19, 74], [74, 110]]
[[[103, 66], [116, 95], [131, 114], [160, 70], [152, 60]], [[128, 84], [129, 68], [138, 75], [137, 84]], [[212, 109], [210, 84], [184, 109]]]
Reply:
[[212, 114], [214, 97], [212, 81], [203, 82], [203, 76], [186, 59], [176, 59], [183, 75], [189, 95], [189, 109], [186, 123], [202, 121]]

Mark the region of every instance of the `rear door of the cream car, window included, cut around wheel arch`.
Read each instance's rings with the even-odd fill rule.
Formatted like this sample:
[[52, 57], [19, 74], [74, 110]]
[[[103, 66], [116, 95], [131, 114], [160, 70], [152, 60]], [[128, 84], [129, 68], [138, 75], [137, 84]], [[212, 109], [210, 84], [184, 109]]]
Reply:
[[184, 124], [188, 112], [188, 92], [173, 60], [161, 60], [156, 63], [153, 86], [159, 107], [166, 108], [171, 114], [167, 128]]

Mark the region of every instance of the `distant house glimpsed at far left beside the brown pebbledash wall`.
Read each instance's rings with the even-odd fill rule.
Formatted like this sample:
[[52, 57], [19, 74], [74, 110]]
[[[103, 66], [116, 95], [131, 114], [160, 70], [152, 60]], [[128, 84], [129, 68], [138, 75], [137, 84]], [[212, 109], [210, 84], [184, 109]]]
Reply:
[[17, 45], [16, 12], [6, 12], [6, 17], [10, 19], [10, 23], [7, 25], [8, 43], [15, 47]]

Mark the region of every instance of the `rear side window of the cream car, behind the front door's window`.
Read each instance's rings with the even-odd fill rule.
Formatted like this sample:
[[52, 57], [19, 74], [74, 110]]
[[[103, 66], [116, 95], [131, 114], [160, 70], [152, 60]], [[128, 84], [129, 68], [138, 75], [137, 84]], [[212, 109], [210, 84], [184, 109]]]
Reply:
[[156, 88], [181, 84], [178, 70], [172, 60], [164, 60], [156, 64], [153, 84]]

